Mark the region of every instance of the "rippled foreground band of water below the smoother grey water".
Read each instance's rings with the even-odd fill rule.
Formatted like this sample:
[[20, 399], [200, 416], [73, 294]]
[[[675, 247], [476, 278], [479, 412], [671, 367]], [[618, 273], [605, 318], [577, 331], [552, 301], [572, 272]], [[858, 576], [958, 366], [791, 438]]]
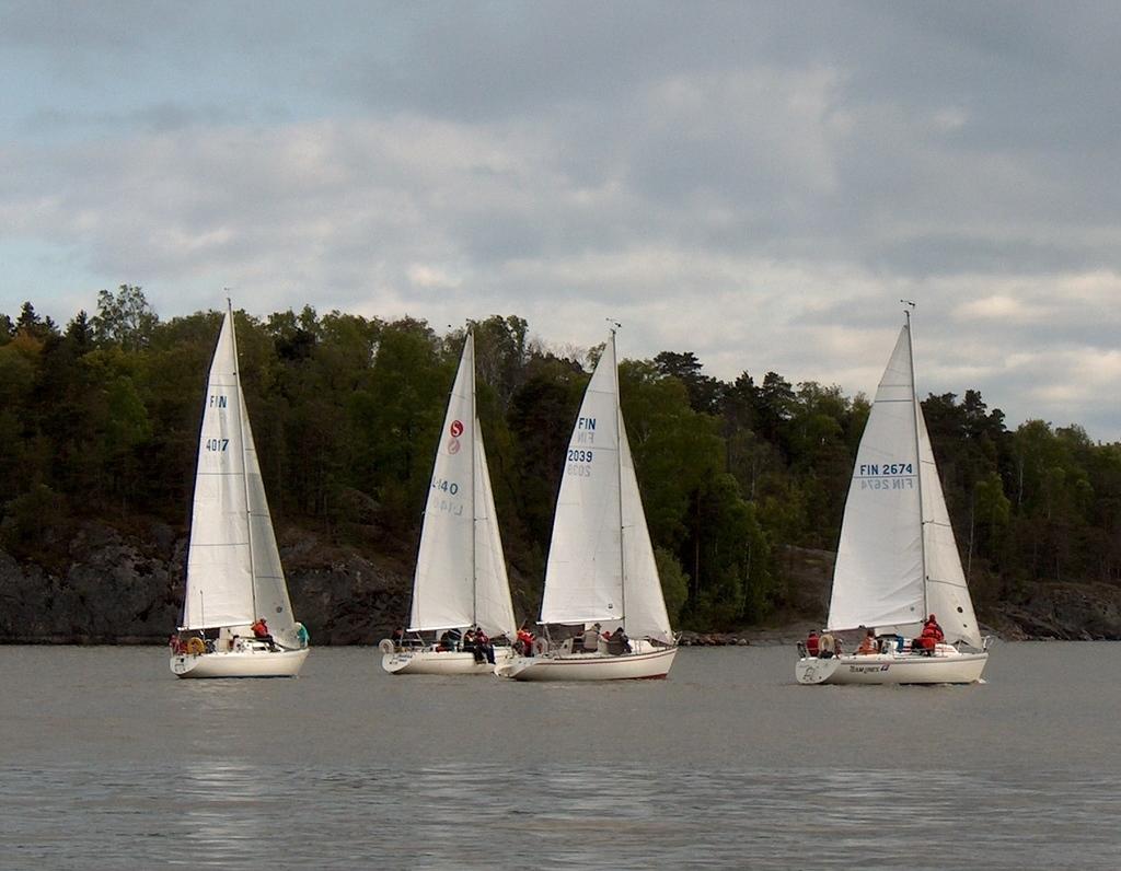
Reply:
[[[1106, 777], [700, 771], [495, 763], [322, 770], [200, 762], [15, 769], [0, 847], [17, 867], [1114, 868]], [[59, 825], [66, 821], [66, 825]], [[936, 861], [916, 859], [930, 845]], [[95, 856], [95, 861], [87, 861]]]

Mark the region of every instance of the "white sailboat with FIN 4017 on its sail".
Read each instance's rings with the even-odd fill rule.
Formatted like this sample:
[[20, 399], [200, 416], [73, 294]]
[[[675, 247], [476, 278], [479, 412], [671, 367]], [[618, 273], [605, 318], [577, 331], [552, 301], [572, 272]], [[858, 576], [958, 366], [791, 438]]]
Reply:
[[172, 637], [178, 677], [295, 677], [308, 652], [288, 601], [239, 371], [226, 300], [198, 437], [183, 620]]

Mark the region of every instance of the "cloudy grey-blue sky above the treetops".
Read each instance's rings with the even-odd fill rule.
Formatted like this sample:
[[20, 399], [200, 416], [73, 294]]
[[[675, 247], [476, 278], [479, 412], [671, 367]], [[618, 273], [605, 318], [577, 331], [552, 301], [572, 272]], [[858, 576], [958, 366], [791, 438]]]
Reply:
[[139, 285], [1121, 441], [1113, 2], [0, 0], [0, 313]]

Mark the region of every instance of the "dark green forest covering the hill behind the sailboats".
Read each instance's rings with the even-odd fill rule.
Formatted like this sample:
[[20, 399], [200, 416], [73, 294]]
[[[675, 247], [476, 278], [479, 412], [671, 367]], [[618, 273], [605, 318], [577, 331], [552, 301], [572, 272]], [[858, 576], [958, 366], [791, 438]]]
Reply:
[[[129, 285], [65, 327], [30, 302], [0, 314], [4, 550], [50, 566], [93, 517], [186, 529], [221, 317], [161, 321]], [[238, 312], [237, 326], [275, 522], [402, 559], [470, 327], [507, 560], [521, 600], [539, 601], [564, 453], [602, 346], [549, 346], [515, 315], [441, 334], [305, 307]], [[706, 630], [797, 617], [784, 555], [835, 549], [869, 400], [777, 372], [724, 382], [703, 369], [684, 350], [620, 364], [670, 617]], [[979, 612], [1038, 583], [1121, 585], [1121, 444], [1044, 420], [1009, 429], [972, 389], [930, 395], [923, 410]]]

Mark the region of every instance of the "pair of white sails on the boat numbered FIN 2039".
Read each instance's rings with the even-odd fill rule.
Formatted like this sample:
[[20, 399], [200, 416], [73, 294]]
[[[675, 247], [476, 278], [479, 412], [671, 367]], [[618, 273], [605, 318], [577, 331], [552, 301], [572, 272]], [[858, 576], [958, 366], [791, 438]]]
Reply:
[[543, 623], [621, 620], [628, 634], [673, 632], [619, 409], [614, 335], [573, 428], [553, 520]]

